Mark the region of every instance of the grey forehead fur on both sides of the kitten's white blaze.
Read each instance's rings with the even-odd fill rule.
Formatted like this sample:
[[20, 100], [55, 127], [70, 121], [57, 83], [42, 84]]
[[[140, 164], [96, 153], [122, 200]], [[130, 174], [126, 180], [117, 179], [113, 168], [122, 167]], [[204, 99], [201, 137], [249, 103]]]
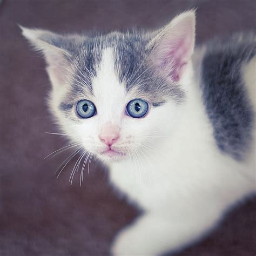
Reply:
[[104, 36], [84, 38], [72, 49], [70, 63], [73, 69], [72, 86], [69, 98], [78, 93], [93, 95], [92, 78], [97, 76], [97, 69], [106, 48], [114, 50], [114, 66], [127, 91], [135, 91], [138, 96], [150, 100], [154, 106], [174, 99], [182, 102], [185, 93], [177, 84], [161, 77], [149, 61], [146, 44], [150, 34], [144, 32], [112, 32]]

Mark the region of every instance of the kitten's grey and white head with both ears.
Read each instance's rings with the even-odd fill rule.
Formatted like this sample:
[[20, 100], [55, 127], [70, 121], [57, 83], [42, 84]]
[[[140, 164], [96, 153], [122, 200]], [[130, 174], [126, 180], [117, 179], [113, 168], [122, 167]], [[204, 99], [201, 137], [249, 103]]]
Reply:
[[43, 52], [64, 133], [104, 161], [150, 150], [175, 126], [194, 48], [193, 11], [154, 32], [56, 35], [23, 30]]

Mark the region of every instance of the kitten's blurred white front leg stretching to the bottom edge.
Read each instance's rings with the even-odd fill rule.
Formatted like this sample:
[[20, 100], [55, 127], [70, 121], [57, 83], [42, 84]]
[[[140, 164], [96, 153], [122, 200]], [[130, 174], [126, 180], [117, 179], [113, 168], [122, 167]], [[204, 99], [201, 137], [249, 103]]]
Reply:
[[196, 241], [217, 223], [220, 214], [203, 208], [194, 210], [187, 211], [185, 208], [176, 214], [142, 215], [117, 235], [112, 255], [159, 255]]

